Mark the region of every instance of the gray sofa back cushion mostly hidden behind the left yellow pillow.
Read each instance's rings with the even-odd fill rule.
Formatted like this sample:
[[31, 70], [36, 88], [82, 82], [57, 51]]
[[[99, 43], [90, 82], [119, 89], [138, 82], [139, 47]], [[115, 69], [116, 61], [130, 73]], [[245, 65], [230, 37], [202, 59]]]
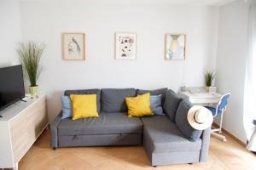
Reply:
[[101, 111], [101, 90], [95, 89], [83, 89], [83, 90], [66, 90], [64, 95], [70, 96], [71, 94], [96, 94], [97, 111]]

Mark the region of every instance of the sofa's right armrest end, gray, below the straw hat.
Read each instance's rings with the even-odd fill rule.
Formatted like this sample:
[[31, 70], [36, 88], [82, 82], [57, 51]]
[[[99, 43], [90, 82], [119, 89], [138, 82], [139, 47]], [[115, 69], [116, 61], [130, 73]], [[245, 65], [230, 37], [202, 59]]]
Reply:
[[211, 127], [207, 128], [201, 133], [201, 150], [200, 150], [200, 162], [207, 161], [209, 145], [211, 138]]

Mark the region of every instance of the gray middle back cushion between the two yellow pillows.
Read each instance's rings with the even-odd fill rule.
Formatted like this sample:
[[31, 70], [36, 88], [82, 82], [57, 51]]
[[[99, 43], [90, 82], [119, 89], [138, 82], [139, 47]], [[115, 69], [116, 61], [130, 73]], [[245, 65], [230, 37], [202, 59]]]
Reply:
[[135, 88], [102, 88], [102, 111], [126, 112], [125, 97], [136, 96]]

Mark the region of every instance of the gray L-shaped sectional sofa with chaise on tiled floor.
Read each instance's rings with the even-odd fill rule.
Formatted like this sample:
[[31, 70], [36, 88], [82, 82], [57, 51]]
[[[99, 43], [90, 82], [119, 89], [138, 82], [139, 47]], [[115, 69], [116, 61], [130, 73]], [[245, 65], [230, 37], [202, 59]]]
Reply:
[[[125, 97], [150, 92], [162, 94], [165, 116], [127, 116]], [[186, 115], [192, 106], [171, 89], [148, 91], [135, 88], [67, 90], [70, 94], [96, 94], [98, 118], [61, 120], [51, 124], [51, 146], [100, 146], [143, 144], [152, 166], [207, 161], [210, 128], [198, 131], [189, 126]]]

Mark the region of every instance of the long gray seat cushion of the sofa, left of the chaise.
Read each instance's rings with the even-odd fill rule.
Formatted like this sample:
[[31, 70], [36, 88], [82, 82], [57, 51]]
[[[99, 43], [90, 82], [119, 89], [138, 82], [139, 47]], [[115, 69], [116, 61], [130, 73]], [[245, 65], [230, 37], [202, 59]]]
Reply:
[[101, 113], [99, 117], [73, 121], [62, 119], [58, 135], [143, 133], [143, 122], [137, 117], [129, 118], [127, 113]]

